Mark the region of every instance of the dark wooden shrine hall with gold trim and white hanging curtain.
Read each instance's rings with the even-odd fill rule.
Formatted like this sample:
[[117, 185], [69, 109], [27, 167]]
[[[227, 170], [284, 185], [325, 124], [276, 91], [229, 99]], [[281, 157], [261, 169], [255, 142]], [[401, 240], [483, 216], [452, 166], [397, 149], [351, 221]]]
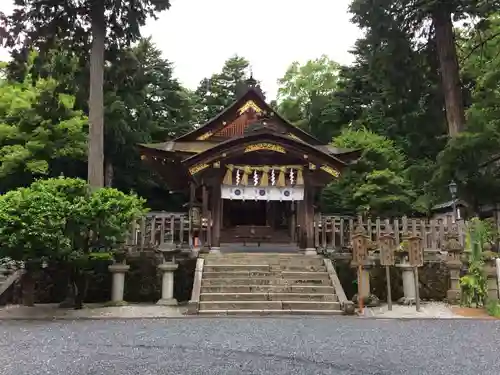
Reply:
[[190, 220], [201, 223], [192, 235], [213, 250], [247, 242], [314, 248], [317, 193], [360, 155], [289, 123], [266, 103], [253, 78], [206, 124], [139, 147], [171, 190], [189, 192]]

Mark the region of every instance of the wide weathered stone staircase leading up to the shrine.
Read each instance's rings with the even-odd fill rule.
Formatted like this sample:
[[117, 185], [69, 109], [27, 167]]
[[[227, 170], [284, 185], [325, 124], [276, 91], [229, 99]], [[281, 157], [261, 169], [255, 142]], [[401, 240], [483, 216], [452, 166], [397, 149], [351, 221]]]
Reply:
[[330, 261], [320, 256], [226, 253], [205, 255], [201, 262], [200, 285], [195, 281], [193, 289], [199, 290], [199, 314], [342, 313], [336, 290], [342, 287], [331, 263], [327, 267]]

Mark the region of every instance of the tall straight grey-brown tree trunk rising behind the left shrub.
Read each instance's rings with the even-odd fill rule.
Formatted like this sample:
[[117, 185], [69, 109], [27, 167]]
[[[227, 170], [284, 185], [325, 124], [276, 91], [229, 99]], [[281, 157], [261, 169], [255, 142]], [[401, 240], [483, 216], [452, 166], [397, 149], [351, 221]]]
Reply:
[[100, 188], [104, 186], [104, 1], [92, 1], [91, 18], [88, 181]]

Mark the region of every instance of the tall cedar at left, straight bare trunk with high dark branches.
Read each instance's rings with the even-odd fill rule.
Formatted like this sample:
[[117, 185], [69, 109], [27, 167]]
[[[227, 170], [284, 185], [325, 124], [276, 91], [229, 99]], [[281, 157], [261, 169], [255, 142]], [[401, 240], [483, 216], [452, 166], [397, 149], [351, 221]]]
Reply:
[[[170, 7], [169, 0], [15, 0], [1, 16], [0, 36], [13, 57], [25, 60], [36, 49], [40, 60], [54, 47], [90, 56], [88, 180], [104, 186], [104, 65], [106, 57], [140, 37], [148, 17]], [[109, 56], [105, 56], [108, 52]]]

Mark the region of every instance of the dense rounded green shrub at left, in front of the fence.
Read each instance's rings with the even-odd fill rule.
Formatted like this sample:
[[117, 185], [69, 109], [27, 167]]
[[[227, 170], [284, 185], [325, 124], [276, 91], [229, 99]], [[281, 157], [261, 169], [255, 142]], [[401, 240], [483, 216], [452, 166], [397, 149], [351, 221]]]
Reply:
[[111, 251], [144, 200], [116, 189], [91, 190], [80, 179], [38, 180], [0, 196], [0, 257], [69, 260]]

